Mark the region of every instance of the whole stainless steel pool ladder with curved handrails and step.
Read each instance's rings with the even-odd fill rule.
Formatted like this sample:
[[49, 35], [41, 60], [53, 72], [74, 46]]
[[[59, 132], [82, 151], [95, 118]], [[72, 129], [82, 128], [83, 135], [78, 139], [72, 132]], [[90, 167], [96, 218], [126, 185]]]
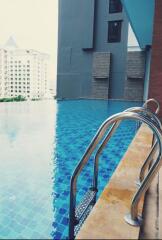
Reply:
[[[154, 112], [149, 110], [148, 103], [154, 102], [157, 104], [157, 109]], [[123, 120], [136, 120], [138, 127], [141, 123], [145, 123], [153, 132], [153, 143], [151, 151], [145, 160], [143, 166], [141, 167], [139, 179], [137, 181], [137, 192], [135, 193], [130, 213], [127, 214], [124, 219], [127, 223], [133, 226], [139, 226], [142, 222], [141, 216], [138, 215], [138, 204], [142, 197], [142, 195], [147, 191], [149, 186], [152, 183], [154, 176], [158, 173], [161, 162], [162, 162], [162, 126], [161, 122], [157, 117], [157, 113], [160, 110], [159, 103], [155, 99], [147, 100], [143, 107], [133, 107], [125, 110], [124, 112], [114, 114], [113, 116], [109, 117], [98, 129], [96, 135], [92, 139], [90, 145], [88, 146], [86, 152], [84, 153], [82, 159], [80, 160], [79, 164], [77, 165], [76, 169], [73, 172], [70, 182], [70, 209], [69, 209], [69, 239], [74, 239], [77, 235], [80, 227], [82, 226], [83, 222], [89, 215], [91, 209], [93, 208], [94, 204], [96, 203], [96, 197], [98, 192], [98, 164], [99, 164], [99, 157], [105, 148], [106, 144], [114, 134], [115, 130], [119, 127], [121, 121]], [[108, 133], [106, 131], [108, 128]], [[106, 136], [105, 136], [106, 134]], [[105, 136], [105, 137], [104, 137]], [[103, 139], [103, 140], [102, 140]], [[93, 173], [93, 183], [92, 186], [89, 188], [85, 196], [83, 197], [82, 201], [76, 206], [76, 183], [79, 174], [87, 164], [90, 156], [96, 149], [99, 142], [102, 140], [95, 158], [94, 158], [94, 173]], [[153, 157], [155, 153], [158, 151], [158, 156], [156, 160], [153, 162]], [[152, 164], [152, 165], [151, 165]], [[150, 168], [149, 168], [150, 167]], [[147, 175], [145, 176], [146, 170], [149, 168]]]

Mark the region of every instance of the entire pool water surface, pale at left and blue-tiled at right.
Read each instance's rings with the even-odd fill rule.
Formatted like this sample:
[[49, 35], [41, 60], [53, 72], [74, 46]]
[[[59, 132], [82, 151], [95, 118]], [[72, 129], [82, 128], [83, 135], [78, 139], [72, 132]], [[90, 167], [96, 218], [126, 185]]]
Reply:
[[[0, 239], [67, 237], [75, 166], [108, 116], [139, 105], [103, 100], [1, 103]], [[134, 133], [134, 122], [124, 122], [104, 150], [99, 194]], [[91, 185], [92, 159], [79, 177], [78, 201]]]

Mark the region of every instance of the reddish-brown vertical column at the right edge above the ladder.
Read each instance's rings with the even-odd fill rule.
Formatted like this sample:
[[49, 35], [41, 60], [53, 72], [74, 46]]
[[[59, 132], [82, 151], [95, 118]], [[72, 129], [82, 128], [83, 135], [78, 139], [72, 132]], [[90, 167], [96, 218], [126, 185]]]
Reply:
[[155, 0], [149, 98], [160, 102], [159, 116], [162, 119], [162, 0]]

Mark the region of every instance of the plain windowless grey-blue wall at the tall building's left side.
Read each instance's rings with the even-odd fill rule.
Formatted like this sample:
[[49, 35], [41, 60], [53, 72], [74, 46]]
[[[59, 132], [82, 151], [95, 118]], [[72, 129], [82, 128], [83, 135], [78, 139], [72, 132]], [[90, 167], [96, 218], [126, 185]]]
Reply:
[[90, 94], [94, 6], [94, 0], [59, 0], [58, 97]]

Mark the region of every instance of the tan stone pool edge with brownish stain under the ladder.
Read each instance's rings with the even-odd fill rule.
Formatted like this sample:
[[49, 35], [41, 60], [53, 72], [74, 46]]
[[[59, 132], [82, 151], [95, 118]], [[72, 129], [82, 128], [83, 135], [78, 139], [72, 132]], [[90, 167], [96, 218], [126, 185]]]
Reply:
[[[150, 152], [151, 142], [152, 132], [146, 125], [142, 125], [76, 239], [139, 239], [140, 227], [127, 224], [124, 216], [130, 211], [132, 197], [137, 191], [135, 181], [138, 179], [142, 163]], [[162, 182], [162, 174], [160, 177]], [[157, 186], [157, 183], [156, 178], [153, 184]], [[152, 202], [146, 207], [150, 207], [150, 204], [151, 207], [155, 206], [155, 216], [151, 221], [156, 224], [155, 188], [152, 191], [154, 200], [151, 199]], [[159, 188], [159, 193], [162, 201], [162, 187]], [[144, 198], [140, 202], [139, 214], [143, 212], [143, 206]], [[159, 221], [162, 221], [162, 213], [159, 215]], [[146, 226], [149, 224], [155, 228], [150, 221]], [[157, 235], [156, 231], [154, 234]], [[158, 234], [160, 235], [160, 231]]]

